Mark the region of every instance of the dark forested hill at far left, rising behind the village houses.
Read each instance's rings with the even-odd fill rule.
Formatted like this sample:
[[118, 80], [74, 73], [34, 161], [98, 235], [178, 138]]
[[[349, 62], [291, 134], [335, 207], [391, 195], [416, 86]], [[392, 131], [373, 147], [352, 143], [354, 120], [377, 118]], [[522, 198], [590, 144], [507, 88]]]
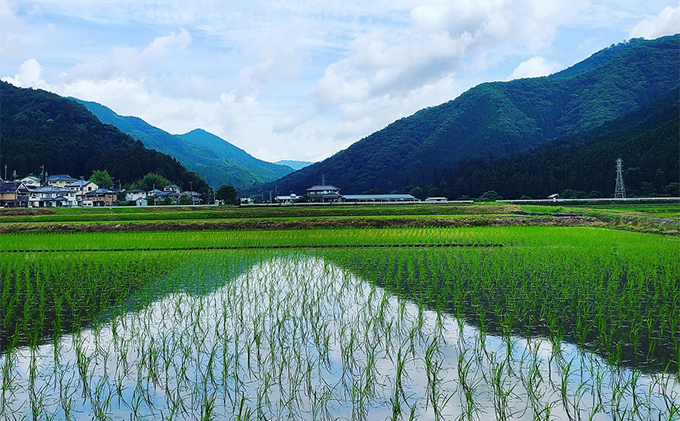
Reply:
[[0, 82], [0, 165], [9, 173], [89, 177], [107, 170], [122, 185], [156, 172], [188, 190], [209, 186], [174, 158], [144, 147], [142, 142], [103, 124], [84, 106], [40, 89]]

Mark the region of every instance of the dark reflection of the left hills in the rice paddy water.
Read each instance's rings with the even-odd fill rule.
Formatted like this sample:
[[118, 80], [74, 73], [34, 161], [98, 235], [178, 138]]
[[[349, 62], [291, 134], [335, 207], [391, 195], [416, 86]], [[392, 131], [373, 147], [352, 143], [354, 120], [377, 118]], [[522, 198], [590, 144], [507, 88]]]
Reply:
[[[36, 344], [52, 342], [56, 329], [66, 334], [107, 323], [115, 315], [138, 311], [168, 294], [209, 293], [266, 258], [271, 258], [266, 251], [165, 251], [57, 253], [39, 260], [15, 259], [12, 273], [25, 276], [33, 293], [8, 291], [24, 301], [3, 309], [0, 354], [10, 345], [28, 345], [36, 338]], [[54, 267], [59, 270], [55, 272]], [[206, 276], [211, 271], [217, 273]]]

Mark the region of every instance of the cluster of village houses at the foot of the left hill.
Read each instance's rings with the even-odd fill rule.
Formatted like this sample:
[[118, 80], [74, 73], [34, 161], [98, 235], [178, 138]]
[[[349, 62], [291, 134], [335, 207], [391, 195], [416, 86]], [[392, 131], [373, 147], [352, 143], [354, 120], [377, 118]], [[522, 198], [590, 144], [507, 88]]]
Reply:
[[68, 174], [51, 175], [41, 180], [35, 176], [5, 181], [0, 179], [0, 207], [55, 208], [148, 205], [200, 205], [203, 198], [195, 191], [182, 191], [174, 184], [162, 190], [124, 190], [103, 188], [90, 180]]

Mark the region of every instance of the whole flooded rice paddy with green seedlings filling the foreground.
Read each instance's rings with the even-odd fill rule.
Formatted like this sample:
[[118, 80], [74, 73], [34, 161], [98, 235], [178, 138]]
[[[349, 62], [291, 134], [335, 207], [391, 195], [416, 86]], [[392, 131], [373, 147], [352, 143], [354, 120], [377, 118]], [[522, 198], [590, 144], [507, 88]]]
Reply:
[[[368, 208], [344, 217], [394, 217]], [[251, 218], [335, 219], [277, 212]], [[0, 418], [677, 419], [679, 240], [606, 225], [5, 233]]]

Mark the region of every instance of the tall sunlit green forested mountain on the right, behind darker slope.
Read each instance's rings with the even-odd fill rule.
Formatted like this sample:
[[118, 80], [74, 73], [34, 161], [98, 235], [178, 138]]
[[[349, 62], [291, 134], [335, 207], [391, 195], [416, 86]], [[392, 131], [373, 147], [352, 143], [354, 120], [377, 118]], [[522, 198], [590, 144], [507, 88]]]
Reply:
[[679, 84], [679, 53], [680, 35], [633, 39], [552, 76], [484, 83], [264, 189], [301, 193], [322, 175], [343, 193], [438, 184], [463, 162], [518, 154], [663, 96]]

